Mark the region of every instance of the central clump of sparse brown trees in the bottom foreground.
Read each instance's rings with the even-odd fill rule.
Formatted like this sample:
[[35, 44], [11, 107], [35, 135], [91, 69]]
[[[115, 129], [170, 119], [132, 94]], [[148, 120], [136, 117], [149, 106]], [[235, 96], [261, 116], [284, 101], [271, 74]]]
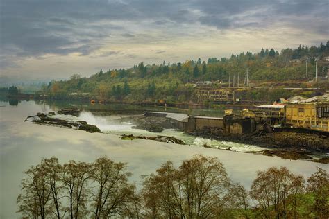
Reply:
[[195, 155], [178, 169], [167, 162], [144, 181], [144, 203], [158, 218], [218, 218], [232, 199], [218, 159]]

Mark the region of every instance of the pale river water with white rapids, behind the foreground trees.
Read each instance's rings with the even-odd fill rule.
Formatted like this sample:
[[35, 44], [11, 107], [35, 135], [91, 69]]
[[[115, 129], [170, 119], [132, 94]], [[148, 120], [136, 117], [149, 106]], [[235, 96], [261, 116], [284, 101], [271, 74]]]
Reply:
[[[88, 112], [83, 113], [80, 119], [99, 125], [105, 134], [91, 134], [67, 128], [24, 123], [26, 116], [34, 115], [36, 112], [56, 111], [68, 105], [68, 103], [60, 102], [51, 105], [34, 101], [22, 101], [18, 105], [0, 102], [0, 218], [19, 218], [19, 214], [15, 213], [17, 211], [16, 198], [19, 195], [19, 184], [24, 178], [23, 172], [28, 166], [38, 164], [43, 157], [56, 156], [61, 162], [66, 162], [70, 159], [94, 161], [100, 156], [108, 156], [115, 161], [128, 162], [128, 168], [133, 173], [130, 180], [137, 184], [140, 184], [141, 175], [149, 175], [165, 161], [171, 160], [179, 165], [180, 161], [189, 159], [195, 154], [218, 157], [226, 167], [230, 178], [234, 182], [244, 184], [247, 189], [255, 179], [257, 170], [265, 170], [272, 166], [286, 166], [293, 173], [304, 177], [309, 177], [314, 173], [316, 166], [329, 171], [329, 165], [310, 161], [291, 161], [277, 157], [203, 148], [200, 146], [202, 143], [214, 144], [219, 148], [231, 146], [235, 150], [260, 149], [255, 146], [189, 137], [174, 130], [165, 130], [164, 134], [183, 139], [189, 143], [189, 146], [146, 140], [123, 141], [119, 139], [121, 133], [150, 133], [133, 130], [130, 123], [114, 123], [114, 117], [93, 116]], [[202, 110], [200, 112], [202, 113]], [[200, 114], [200, 112], [194, 113]], [[220, 116], [221, 111], [212, 110], [205, 113]]]

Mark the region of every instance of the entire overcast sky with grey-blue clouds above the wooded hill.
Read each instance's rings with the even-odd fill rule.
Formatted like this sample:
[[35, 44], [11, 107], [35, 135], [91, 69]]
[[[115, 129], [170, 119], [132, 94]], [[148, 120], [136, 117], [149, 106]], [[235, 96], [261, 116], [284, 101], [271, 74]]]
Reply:
[[68, 78], [329, 40], [329, 0], [1, 0], [1, 76]]

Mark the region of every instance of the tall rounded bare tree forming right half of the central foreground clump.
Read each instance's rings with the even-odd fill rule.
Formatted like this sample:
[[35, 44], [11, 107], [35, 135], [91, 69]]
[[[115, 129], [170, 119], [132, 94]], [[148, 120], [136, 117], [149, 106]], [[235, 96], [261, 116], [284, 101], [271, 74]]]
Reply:
[[223, 164], [215, 157], [195, 155], [179, 168], [189, 218], [219, 217], [232, 198], [230, 180]]

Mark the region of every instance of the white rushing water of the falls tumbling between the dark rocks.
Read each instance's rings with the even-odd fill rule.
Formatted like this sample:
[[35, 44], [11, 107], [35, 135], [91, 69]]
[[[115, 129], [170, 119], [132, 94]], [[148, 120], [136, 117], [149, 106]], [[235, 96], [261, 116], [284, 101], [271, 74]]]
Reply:
[[96, 125], [101, 132], [105, 134], [134, 134], [134, 135], [166, 135], [171, 137], [176, 137], [177, 139], [183, 140], [190, 146], [204, 146], [207, 145], [211, 148], [219, 148], [219, 149], [227, 149], [230, 148], [234, 151], [239, 152], [253, 152], [253, 151], [261, 151], [263, 148], [246, 145], [244, 143], [234, 143], [230, 141], [218, 141], [212, 139], [205, 139], [202, 137], [194, 137], [189, 134], [185, 134], [184, 132], [180, 132], [174, 129], [166, 129], [163, 132], [155, 133], [149, 132], [146, 130], [135, 129], [133, 128], [135, 125], [130, 122], [121, 122], [119, 121], [120, 116], [94, 116], [91, 112], [81, 112], [78, 119], [74, 116], [65, 116], [62, 119], [70, 119], [70, 120], [83, 120], [88, 124]]

